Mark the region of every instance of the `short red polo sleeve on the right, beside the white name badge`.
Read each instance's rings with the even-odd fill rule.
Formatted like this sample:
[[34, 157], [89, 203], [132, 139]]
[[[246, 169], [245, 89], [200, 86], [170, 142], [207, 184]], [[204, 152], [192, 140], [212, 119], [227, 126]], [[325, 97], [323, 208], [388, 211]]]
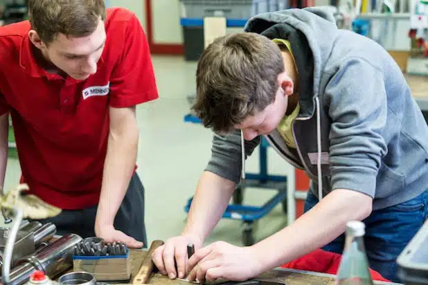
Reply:
[[131, 107], [159, 97], [150, 48], [139, 20], [133, 15], [125, 30], [122, 55], [110, 78], [112, 107]]

